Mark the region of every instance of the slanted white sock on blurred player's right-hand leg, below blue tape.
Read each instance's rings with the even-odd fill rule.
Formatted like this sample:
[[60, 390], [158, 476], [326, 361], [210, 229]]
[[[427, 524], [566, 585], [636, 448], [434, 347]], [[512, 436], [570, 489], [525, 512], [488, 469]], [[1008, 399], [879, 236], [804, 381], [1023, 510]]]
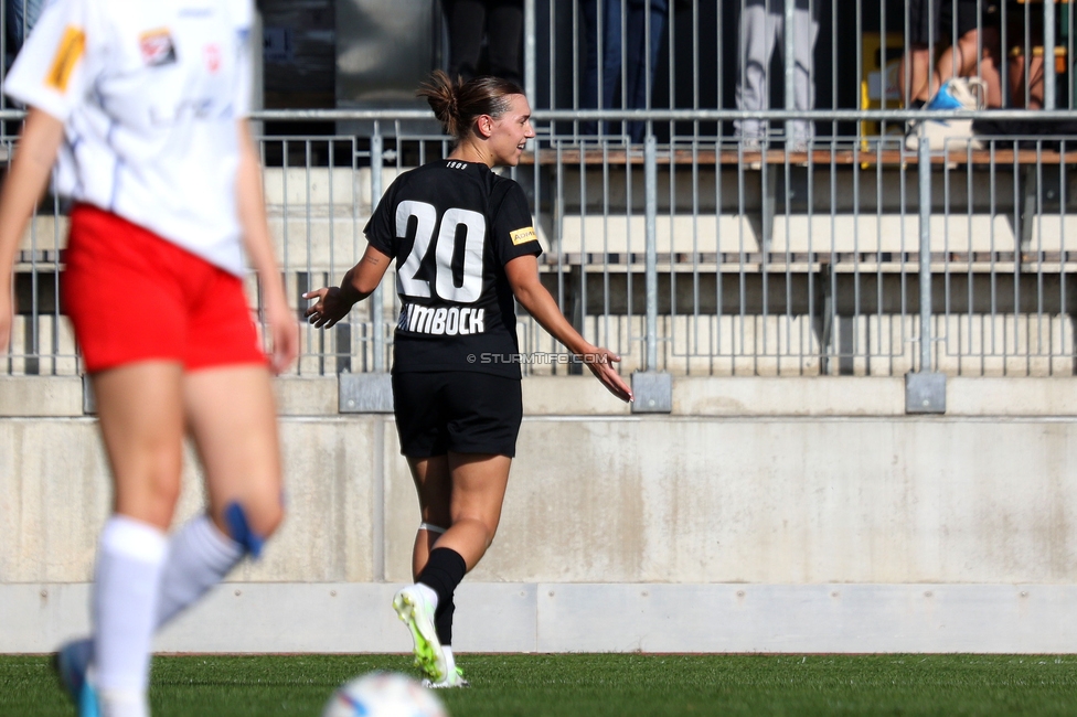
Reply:
[[209, 515], [188, 521], [169, 541], [157, 627], [169, 622], [224, 579], [243, 555], [243, 546], [221, 533]]

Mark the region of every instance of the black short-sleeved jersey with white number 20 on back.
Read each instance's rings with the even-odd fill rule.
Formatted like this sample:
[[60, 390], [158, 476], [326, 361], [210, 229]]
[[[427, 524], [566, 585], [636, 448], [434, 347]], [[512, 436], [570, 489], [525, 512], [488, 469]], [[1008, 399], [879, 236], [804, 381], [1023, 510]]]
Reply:
[[504, 265], [542, 247], [519, 184], [482, 163], [430, 162], [396, 178], [365, 233], [396, 259], [393, 373], [520, 377]]

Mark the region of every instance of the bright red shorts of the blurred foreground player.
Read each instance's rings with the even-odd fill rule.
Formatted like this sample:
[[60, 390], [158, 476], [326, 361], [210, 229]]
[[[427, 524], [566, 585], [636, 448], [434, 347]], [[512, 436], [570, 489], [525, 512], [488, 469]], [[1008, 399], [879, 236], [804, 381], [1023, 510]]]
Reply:
[[76, 205], [66, 264], [64, 311], [88, 373], [157, 360], [266, 363], [239, 278], [152, 232]]

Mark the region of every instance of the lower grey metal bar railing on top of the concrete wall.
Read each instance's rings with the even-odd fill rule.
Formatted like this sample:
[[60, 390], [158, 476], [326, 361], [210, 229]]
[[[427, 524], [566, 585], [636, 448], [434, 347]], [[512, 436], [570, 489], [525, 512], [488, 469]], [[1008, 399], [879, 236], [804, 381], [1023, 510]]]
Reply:
[[[680, 111], [680, 110], [678, 110]], [[899, 121], [904, 110], [817, 110]], [[699, 113], [721, 121], [735, 110]], [[701, 375], [1073, 375], [1077, 138], [982, 138], [948, 151], [899, 139], [813, 140], [747, 151], [724, 137], [576, 141], [536, 113], [540, 137], [511, 174], [532, 201], [543, 280], [566, 315], [625, 356], [622, 370]], [[774, 110], [776, 119], [789, 113]], [[1057, 113], [1044, 113], [1051, 120]], [[621, 114], [620, 117], [628, 117]], [[631, 115], [632, 117], [646, 117]], [[657, 119], [680, 116], [652, 110]], [[942, 116], [936, 114], [934, 116]], [[1010, 111], [1007, 117], [1028, 117]], [[270, 225], [291, 301], [334, 283], [365, 246], [373, 202], [401, 171], [449, 149], [387, 113], [265, 113], [366, 120], [366, 136], [262, 140]], [[381, 171], [372, 172], [381, 158]], [[47, 201], [17, 263], [7, 374], [74, 374], [60, 304], [65, 217]], [[303, 329], [300, 375], [385, 371], [392, 283], [350, 321]], [[250, 296], [257, 302], [252, 283]], [[534, 323], [525, 354], [556, 353]], [[534, 374], [578, 366], [535, 363]]]

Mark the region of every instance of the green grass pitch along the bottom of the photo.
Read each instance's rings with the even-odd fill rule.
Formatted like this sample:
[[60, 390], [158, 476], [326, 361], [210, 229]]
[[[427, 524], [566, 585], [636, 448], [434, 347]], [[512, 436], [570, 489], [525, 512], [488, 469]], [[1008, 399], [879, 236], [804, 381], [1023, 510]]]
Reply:
[[[1073, 715], [1077, 655], [469, 655], [454, 717]], [[162, 656], [154, 717], [318, 717], [333, 688], [402, 655]], [[71, 716], [47, 657], [0, 657], [0, 716]]]

